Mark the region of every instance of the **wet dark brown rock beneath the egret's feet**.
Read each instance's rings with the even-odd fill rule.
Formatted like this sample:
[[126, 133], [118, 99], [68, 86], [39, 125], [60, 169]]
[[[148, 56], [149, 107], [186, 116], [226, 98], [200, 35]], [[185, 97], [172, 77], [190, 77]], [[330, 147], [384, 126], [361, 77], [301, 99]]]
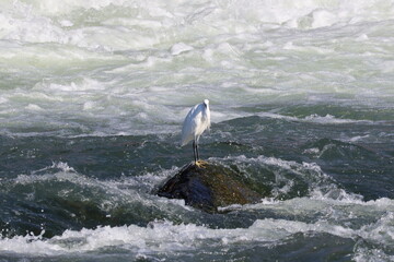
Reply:
[[240, 174], [228, 167], [207, 162], [198, 164], [184, 166], [159, 189], [158, 195], [184, 199], [187, 205], [210, 213], [218, 212], [219, 206], [256, 203], [267, 196], [251, 189]]

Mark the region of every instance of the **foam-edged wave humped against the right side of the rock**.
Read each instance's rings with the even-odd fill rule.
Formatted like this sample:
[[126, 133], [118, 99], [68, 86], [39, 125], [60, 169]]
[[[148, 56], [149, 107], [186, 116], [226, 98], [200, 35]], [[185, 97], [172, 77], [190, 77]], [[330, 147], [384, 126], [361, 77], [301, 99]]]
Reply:
[[[308, 196], [335, 201], [360, 201], [362, 196], [346, 192], [332, 177], [323, 172], [316, 163], [297, 163], [276, 157], [228, 156], [211, 157], [224, 165], [236, 165], [254, 183], [269, 187], [276, 200]], [[264, 186], [263, 186], [264, 184]]]

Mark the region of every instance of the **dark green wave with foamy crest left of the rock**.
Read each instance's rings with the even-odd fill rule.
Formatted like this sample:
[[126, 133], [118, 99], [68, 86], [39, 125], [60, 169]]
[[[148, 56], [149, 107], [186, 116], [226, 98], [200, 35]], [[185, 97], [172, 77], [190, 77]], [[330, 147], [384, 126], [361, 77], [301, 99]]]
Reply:
[[25, 231], [38, 235], [45, 229], [44, 237], [53, 237], [67, 228], [146, 225], [153, 217], [163, 216], [176, 219], [190, 213], [184, 201], [160, 199], [151, 193], [172, 171], [97, 179], [59, 162], [28, 175], [1, 179], [0, 189], [7, 200], [1, 203], [1, 235]]

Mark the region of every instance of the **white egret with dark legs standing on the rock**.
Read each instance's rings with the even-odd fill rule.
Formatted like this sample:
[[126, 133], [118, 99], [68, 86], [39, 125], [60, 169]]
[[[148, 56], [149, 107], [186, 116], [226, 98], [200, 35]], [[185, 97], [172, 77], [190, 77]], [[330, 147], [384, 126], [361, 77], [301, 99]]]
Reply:
[[194, 106], [187, 114], [182, 128], [182, 142], [184, 146], [193, 141], [195, 164], [198, 165], [198, 140], [206, 129], [210, 128], [209, 100]]

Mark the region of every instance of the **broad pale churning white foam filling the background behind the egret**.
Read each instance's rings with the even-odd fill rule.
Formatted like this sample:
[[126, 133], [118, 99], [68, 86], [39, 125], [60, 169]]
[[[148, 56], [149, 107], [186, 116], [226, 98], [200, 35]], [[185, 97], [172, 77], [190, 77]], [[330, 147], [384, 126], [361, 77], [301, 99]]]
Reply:
[[[327, 93], [352, 97], [345, 106], [392, 105], [393, 67], [381, 55], [390, 53], [385, 20], [394, 11], [379, 0], [33, 0], [1, 8], [0, 67], [11, 78], [0, 83], [5, 131], [45, 129], [39, 120], [57, 123], [43, 130], [51, 135], [175, 132], [207, 94], [213, 122], [254, 115], [237, 109], [245, 105], [343, 102], [316, 99]], [[354, 122], [327, 114], [256, 115]]]

